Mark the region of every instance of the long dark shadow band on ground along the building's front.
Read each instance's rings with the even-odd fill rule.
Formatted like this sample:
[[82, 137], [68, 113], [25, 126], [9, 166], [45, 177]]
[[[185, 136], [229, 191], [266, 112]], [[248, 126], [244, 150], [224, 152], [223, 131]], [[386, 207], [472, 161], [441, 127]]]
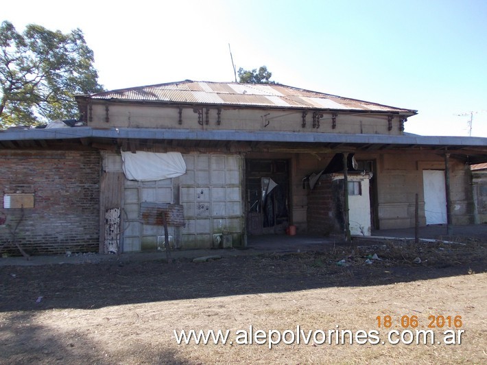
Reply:
[[[380, 260], [368, 263], [376, 253]], [[414, 263], [415, 257], [423, 257]], [[342, 264], [340, 264], [342, 261]], [[370, 260], [369, 260], [370, 261]], [[0, 267], [0, 311], [92, 309], [336, 286], [373, 286], [486, 272], [485, 242], [333, 246], [327, 252], [102, 261], [78, 265]]]

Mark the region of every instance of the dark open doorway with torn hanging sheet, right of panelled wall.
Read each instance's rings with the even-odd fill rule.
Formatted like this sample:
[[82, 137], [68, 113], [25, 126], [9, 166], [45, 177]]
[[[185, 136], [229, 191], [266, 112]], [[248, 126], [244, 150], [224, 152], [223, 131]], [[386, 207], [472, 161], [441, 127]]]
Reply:
[[285, 233], [289, 225], [289, 161], [246, 160], [247, 233]]

